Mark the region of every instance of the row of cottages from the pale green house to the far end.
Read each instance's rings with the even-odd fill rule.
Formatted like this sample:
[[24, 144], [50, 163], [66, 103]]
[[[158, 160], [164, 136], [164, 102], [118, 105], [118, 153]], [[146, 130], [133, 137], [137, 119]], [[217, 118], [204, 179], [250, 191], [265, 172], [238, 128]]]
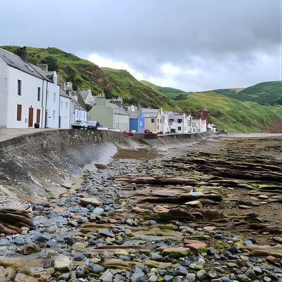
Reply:
[[162, 109], [124, 107], [121, 98], [106, 99], [102, 93], [93, 97], [89, 111], [90, 120], [98, 120], [103, 127], [119, 131], [144, 133], [196, 133], [215, 131], [214, 125], [206, 120], [193, 119], [191, 115], [164, 112]]

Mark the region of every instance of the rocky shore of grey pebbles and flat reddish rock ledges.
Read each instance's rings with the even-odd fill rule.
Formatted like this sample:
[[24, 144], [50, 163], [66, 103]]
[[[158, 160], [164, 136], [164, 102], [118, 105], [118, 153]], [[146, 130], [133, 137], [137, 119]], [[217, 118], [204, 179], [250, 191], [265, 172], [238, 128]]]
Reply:
[[1, 231], [0, 282], [281, 282], [281, 150], [280, 137], [119, 149], [80, 186], [23, 203], [33, 224]]

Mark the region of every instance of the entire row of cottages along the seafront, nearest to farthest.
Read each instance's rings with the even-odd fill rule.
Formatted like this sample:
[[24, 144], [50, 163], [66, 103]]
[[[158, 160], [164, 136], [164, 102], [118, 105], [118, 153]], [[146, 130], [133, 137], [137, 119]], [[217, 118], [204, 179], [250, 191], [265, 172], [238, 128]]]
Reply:
[[[105, 128], [144, 133], [189, 133], [215, 130], [206, 120], [191, 115], [123, 106], [121, 98], [106, 99], [104, 92], [73, 90], [71, 82], [58, 82], [46, 64], [27, 62], [25, 47], [16, 54], [0, 48], [0, 128], [66, 128], [77, 120], [98, 121]], [[92, 107], [87, 112], [86, 105]]]

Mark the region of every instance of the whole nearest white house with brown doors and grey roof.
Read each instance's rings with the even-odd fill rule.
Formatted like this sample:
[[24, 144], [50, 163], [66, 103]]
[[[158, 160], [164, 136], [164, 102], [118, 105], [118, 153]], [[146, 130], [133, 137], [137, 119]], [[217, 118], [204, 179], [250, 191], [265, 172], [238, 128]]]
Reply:
[[31, 128], [45, 126], [45, 95], [49, 79], [21, 57], [0, 48], [0, 127]]

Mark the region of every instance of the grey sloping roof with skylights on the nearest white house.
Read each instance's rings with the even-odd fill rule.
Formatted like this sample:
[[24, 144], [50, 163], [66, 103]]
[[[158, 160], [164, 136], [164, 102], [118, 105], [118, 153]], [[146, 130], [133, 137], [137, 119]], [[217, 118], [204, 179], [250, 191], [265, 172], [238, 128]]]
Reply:
[[21, 59], [21, 57], [6, 51], [2, 48], [0, 48], [0, 57], [4, 60], [4, 62], [9, 65], [10, 67], [13, 67], [15, 69], [21, 70], [23, 72], [26, 72], [30, 75], [36, 76], [41, 79], [48, 80], [52, 82], [46, 74], [42, 71], [41, 68], [38, 68], [28, 62], [25, 62]]

